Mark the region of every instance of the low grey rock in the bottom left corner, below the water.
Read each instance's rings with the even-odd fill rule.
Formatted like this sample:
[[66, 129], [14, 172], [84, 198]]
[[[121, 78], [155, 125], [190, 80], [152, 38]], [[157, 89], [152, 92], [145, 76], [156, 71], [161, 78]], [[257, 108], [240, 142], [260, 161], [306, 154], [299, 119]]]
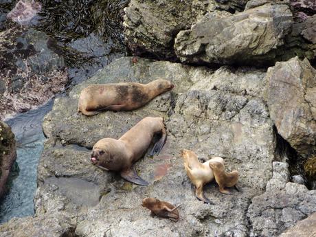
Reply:
[[74, 236], [74, 221], [63, 213], [55, 216], [43, 215], [35, 218], [12, 218], [8, 223], [0, 225], [1, 236]]

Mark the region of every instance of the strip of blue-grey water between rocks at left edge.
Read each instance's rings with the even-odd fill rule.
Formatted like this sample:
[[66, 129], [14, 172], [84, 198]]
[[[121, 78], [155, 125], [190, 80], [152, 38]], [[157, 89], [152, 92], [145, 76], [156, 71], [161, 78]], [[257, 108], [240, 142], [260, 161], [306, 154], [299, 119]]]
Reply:
[[44, 106], [5, 121], [16, 136], [19, 175], [10, 181], [10, 191], [0, 202], [0, 223], [13, 217], [34, 214], [34, 193], [38, 160], [43, 152], [45, 136], [43, 134], [43, 117], [52, 110], [53, 100]]

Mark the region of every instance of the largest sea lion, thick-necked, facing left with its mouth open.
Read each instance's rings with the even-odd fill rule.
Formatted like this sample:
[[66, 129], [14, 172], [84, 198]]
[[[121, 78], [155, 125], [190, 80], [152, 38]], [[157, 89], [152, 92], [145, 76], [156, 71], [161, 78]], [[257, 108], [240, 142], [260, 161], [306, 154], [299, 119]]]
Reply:
[[91, 162], [106, 170], [120, 171], [121, 177], [127, 181], [148, 185], [131, 166], [146, 153], [156, 133], [161, 133], [161, 138], [153, 146], [150, 155], [158, 155], [167, 138], [163, 118], [145, 117], [120, 139], [100, 139], [92, 148]]

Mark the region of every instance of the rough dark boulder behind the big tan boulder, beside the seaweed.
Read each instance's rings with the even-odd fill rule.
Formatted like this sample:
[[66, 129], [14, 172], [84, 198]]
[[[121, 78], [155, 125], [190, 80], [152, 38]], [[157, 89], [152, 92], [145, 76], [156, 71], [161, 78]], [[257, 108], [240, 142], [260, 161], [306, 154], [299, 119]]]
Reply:
[[174, 38], [206, 12], [242, 11], [248, 0], [132, 0], [125, 9], [124, 36], [135, 55], [175, 60]]

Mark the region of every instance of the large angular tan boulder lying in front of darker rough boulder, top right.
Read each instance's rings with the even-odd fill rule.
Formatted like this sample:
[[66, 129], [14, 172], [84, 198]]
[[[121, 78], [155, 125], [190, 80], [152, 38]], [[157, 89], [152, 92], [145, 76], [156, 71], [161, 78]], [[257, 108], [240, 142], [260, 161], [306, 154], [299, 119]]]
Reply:
[[291, 25], [292, 13], [284, 4], [264, 4], [229, 16], [209, 13], [179, 32], [174, 49], [185, 63], [271, 64]]

